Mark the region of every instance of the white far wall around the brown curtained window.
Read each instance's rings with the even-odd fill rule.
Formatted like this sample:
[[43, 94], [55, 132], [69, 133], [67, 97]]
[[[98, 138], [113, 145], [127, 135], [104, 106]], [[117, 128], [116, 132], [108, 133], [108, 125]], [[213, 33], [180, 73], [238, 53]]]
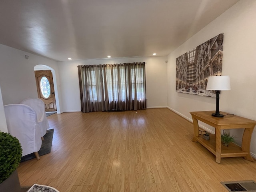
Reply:
[[62, 84], [62, 112], [81, 111], [78, 65], [146, 62], [147, 107], [167, 106], [167, 57], [123, 58], [58, 62]]

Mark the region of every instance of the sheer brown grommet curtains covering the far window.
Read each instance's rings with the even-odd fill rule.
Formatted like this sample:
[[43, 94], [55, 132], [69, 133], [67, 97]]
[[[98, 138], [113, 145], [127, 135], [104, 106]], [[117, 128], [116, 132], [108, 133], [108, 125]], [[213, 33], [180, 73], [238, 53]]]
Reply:
[[145, 62], [78, 66], [82, 112], [146, 109]]

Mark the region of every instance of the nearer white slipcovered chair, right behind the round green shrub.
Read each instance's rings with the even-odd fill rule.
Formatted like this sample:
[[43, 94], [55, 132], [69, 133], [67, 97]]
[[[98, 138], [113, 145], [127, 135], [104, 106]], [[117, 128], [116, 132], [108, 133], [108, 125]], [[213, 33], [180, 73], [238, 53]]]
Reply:
[[22, 156], [35, 153], [40, 159], [42, 139], [35, 110], [24, 104], [10, 104], [4, 106], [4, 112], [8, 132], [20, 141]]

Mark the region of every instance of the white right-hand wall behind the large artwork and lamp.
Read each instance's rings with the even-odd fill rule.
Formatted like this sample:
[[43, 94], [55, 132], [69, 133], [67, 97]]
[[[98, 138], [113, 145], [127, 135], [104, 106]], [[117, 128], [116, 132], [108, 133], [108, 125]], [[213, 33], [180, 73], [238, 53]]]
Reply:
[[[256, 120], [256, 1], [240, 0], [200, 32], [168, 55], [168, 107], [191, 120], [190, 111], [215, 110], [216, 99], [175, 91], [176, 58], [206, 40], [224, 33], [222, 74], [229, 75], [231, 90], [222, 91], [220, 111]], [[211, 127], [208, 126], [211, 129]], [[212, 129], [213, 130], [213, 129]], [[256, 154], [256, 130], [251, 152]], [[231, 132], [241, 144], [242, 131]]]

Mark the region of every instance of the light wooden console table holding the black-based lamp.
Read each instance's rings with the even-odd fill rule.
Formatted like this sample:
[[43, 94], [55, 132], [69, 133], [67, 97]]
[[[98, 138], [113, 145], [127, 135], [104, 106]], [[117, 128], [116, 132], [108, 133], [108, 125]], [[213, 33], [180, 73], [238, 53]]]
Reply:
[[[215, 111], [197, 111], [190, 112], [194, 124], [194, 137], [192, 141], [199, 142], [204, 147], [206, 147], [210, 152], [212, 152], [217, 163], [220, 163], [220, 158], [223, 157], [244, 157], [246, 160], [254, 161], [250, 154], [250, 142], [252, 137], [252, 132], [256, 121], [242, 118], [240, 116], [227, 115], [222, 118], [213, 117], [212, 113]], [[227, 114], [225, 112], [220, 112], [221, 114]], [[204, 140], [202, 135], [199, 135], [198, 120], [213, 126], [215, 128], [215, 136], [210, 135], [210, 140]], [[221, 144], [221, 130], [222, 129], [240, 129], [244, 128], [244, 134], [242, 138], [242, 147], [231, 143], [228, 147]]]

